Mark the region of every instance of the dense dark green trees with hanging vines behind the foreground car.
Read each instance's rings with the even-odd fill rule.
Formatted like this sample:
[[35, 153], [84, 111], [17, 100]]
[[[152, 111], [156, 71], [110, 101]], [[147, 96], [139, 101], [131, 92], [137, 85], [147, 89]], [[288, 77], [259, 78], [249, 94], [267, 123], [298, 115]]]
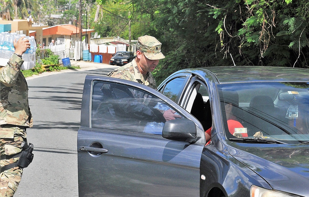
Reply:
[[153, 12], [155, 31], [166, 54], [155, 73], [159, 82], [182, 68], [234, 62], [308, 66], [308, 1], [160, 0], [158, 4]]

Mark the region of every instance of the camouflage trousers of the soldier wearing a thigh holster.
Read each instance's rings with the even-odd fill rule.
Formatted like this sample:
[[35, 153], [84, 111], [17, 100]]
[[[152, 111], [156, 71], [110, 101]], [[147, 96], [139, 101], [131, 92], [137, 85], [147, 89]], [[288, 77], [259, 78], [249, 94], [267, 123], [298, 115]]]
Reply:
[[[21, 143], [26, 139], [27, 134], [23, 127], [15, 125], [0, 125], [0, 147], [1, 155], [14, 155], [19, 153]], [[3, 156], [2, 156], [3, 157]], [[19, 157], [0, 160], [0, 167], [17, 162]], [[12, 197], [18, 187], [23, 169], [14, 167], [3, 171], [0, 174], [0, 197]]]

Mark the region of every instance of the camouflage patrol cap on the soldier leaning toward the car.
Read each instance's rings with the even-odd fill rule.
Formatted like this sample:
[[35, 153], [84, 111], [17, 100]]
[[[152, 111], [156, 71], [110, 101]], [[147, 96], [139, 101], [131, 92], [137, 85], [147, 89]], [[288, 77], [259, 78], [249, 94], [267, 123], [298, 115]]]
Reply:
[[161, 53], [161, 42], [155, 37], [149, 35], [139, 37], [136, 48], [142, 51], [148, 59], [157, 60], [165, 58]]

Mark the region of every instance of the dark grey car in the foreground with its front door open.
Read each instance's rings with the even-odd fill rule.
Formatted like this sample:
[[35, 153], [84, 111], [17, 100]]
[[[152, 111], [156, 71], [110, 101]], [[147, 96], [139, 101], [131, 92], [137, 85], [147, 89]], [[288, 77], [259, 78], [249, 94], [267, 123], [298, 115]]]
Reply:
[[[158, 90], [86, 76], [80, 197], [309, 196], [307, 69], [185, 69]], [[162, 121], [168, 109], [182, 118]]]

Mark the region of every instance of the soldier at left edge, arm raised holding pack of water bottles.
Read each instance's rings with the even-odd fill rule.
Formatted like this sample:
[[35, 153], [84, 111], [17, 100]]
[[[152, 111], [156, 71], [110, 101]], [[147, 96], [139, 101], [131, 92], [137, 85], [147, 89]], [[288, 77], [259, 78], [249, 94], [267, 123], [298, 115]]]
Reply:
[[[28, 85], [20, 71], [22, 54], [30, 48], [24, 37], [14, 41], [15, 53], [5, 67], [0, 68], [0, 167], [16, 163], [15, 157], [22, 151], [21, 143], [26, 139], [26, 128], [32, 127], [32, 115], [28, 104]], [[23, 170], [13, 167], [0, 174], [0, 197], [13, 196]]]

